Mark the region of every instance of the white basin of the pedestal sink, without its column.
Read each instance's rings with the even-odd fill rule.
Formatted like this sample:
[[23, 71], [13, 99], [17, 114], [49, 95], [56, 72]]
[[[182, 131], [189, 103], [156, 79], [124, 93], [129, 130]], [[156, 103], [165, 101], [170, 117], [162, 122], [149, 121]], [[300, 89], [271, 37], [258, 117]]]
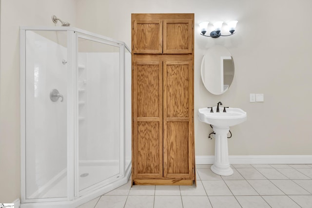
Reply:
[[198, 118], [201, 122], [211, 124], [217, 127], [230, 127], [240, 124], [247, 119], [247, 113], [239, 108], [226, 108], [226, 113], [223, 112], [223, 107], [219, 107], [220, 112], [216, 112], [216, 106], [213, 107], [214, 113], [210, 113], [210, 108], [198, 109]]

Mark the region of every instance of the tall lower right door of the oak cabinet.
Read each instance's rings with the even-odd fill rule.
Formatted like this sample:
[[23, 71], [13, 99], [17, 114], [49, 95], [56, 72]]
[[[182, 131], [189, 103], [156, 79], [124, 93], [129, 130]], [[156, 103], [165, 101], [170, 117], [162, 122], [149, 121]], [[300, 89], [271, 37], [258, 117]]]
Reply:
[[164, 61], [164, 177], [194, 177], [193, 63]]

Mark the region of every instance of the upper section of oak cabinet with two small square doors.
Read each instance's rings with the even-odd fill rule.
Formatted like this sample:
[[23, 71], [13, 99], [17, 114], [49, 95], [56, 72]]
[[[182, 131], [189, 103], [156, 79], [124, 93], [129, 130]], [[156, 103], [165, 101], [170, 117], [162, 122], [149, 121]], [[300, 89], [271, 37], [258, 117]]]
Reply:
[[192, 54], [193, 22], [193, 14], [132, 14], [133, 53]]

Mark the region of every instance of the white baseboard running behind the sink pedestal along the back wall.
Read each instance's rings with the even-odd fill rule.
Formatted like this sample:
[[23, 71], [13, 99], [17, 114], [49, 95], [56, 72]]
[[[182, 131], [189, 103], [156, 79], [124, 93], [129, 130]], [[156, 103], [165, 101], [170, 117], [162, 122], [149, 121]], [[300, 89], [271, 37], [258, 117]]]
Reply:
[[[230, 164], [312, 164], [312, 155], [230, 155]], [[197, 155], [196, 164], [214, 164], [215, 156]]]

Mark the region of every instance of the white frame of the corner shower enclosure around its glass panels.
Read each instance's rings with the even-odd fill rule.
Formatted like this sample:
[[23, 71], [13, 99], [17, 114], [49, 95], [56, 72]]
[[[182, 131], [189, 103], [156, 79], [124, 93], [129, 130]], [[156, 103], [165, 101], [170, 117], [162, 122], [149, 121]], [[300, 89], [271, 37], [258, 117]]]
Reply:
[[[70, 77], [67, 88], [67, 196], [56, 198], [35, 198], [26, 199], [26, 31], [51, 31], [67, 32], [67, 76]], [[118, 177], [114, 180], [107, 181], [108, 179], [92, 185], [86, 191], [79, 191], [78, 187], [78, 89], [77, 89], [77, 76], [78, 76], [78, 63], [77, 63], [77, 41], [78, 37], [91, 38], [91, 40], [102, 40], [105, 43], [115, 43], [119, 46], [119, 95], [120, 95], [120, 145], [119, 145], [119, 167], [120, 172], [118, 177], [123, 176], [122, 180], [118, 181]], [[85, 203], [98, 195], [100, 191], [105, 190], [107, 187], [115, 189], [118, 186], [128, 181], [124, 177], [130, 176], [131, 162], [128, 167], [125, 167], [125, 122], [129, 120], [125, 113], [125, 101], [129, 102], [125, 96], [125, 50], [130, 52], [128, 46], [122, 42], [112, 38], [104, 37], [94, 34], [85, 30], [74, 27], [28, 27], [20, 26], [20, 198], [21, 207], [28, 207], [39, 203], [39, 207], [79, 205]], [[123, 58], [122, 58], [123, 57]], [[131, 102], [131, 100], [130, 100]], [[131, 119], [131, 118], [130, 118]], [[131, 137], [130, 137], [131, 139]], [[76, 148], [76, 149], [75, 149]], [[115, 183], [113, 183], [115, 182]], [[91, 192], [93, 191], [93, 192]], [[47, 203], [45, 203], [47, 202]], [[66, 203], [67, 202], [67, 203]], [[25, 203], [25, 204], [23, 204]]]

